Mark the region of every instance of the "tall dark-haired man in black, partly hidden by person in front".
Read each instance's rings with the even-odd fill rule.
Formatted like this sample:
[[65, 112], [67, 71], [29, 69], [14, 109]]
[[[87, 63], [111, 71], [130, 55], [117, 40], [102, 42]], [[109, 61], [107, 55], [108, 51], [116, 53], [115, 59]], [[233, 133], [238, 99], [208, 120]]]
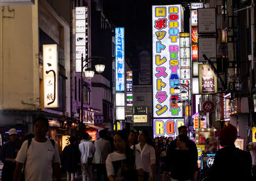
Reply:
[[[181, 126], [178, 128], [179, 131], [179, 136], [180, 135], [186, 135], [188, 136], [188, 130], [186, 126]], [[192, 159], [193, 162], [193, 175], [191, 176], [191, 180], [194, 181], [196, 180], [197, 177], [197, 173], [198, 173], [198, 165], [197, 165], [197, 160], [198, 160], [198, 152], [197, 152], [197, 148], [196, 148], [196, 144], [191, 141], [190, 139], [188, 140], [188, 143], [186, 143], [186, 146], [189, 149], [189, 155]], [[177, 148], [177, 139], [173, 140], [170, 145], [168, 146], [168, 150], [167, 150], [167, 157], [166, 157], [166, 164], [164, 166], [164, 173], [163, 173], [163, 177], [162, 177], [162, 181], [165, 180], [166, 174], [168, 173], [168, 171], [171, 171], [171, 175], [172, 175], [172, 170], [171, 170], [171, 162], [172, 162], [172, 153], [173, 150], [175, 150]]]

